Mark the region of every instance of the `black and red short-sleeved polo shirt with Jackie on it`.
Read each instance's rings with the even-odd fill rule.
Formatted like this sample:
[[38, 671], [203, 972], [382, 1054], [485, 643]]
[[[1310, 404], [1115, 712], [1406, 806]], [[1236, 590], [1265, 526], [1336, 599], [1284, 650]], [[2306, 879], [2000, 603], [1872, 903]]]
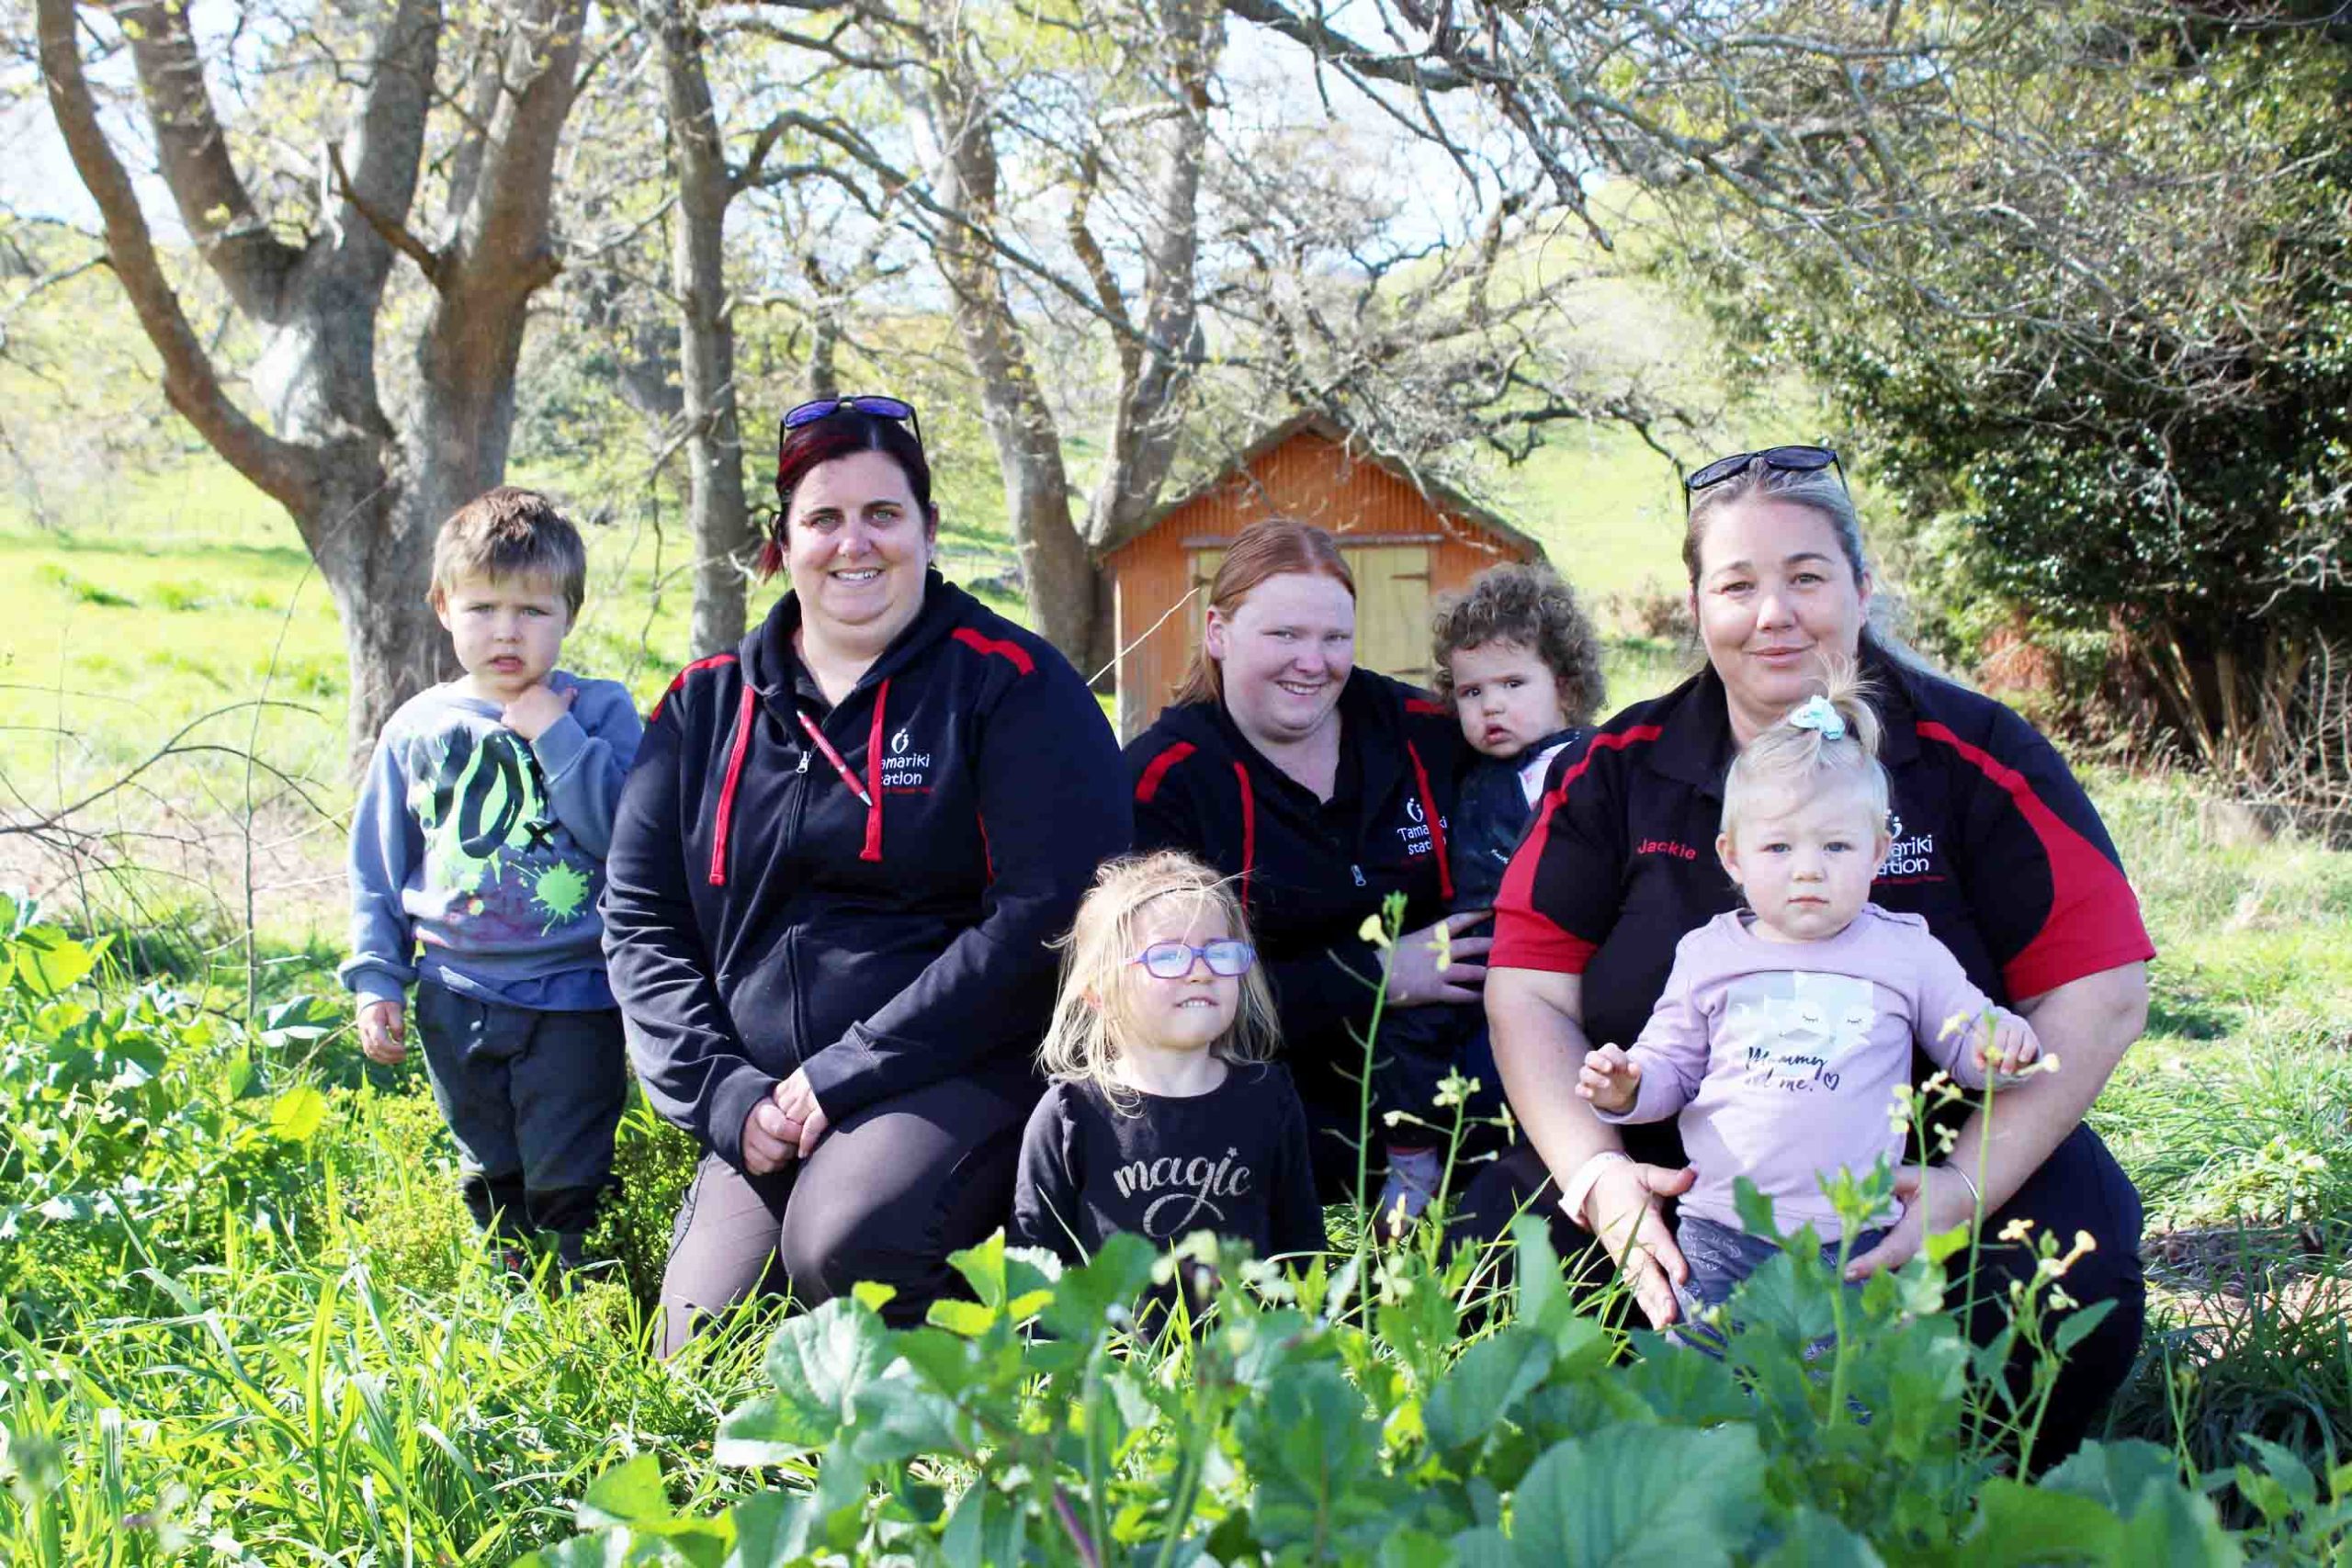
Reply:
[[[1893, 785], [1872, 903], [1922, 914], [2002, 1004], [2154, 957], [2098, 811], [2032, 724], [1870, 646], [1863, 672]], [[1489, 964], [1583, 976], [1595, 1044], [1635, 1039], [1675, 943], [1738, 907], [1715, 858], [1733, 750], [1724, 684], [1700, 670], [1552, 762]]]

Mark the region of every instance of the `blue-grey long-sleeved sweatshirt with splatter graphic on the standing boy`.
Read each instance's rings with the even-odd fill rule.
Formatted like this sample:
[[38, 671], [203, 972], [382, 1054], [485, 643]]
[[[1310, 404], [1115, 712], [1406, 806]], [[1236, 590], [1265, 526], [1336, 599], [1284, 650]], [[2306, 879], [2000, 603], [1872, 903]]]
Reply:
[[541, 1011], [607, 1009], [604, 851], [642, 724], [619, 682], [548, 675], [572, 712], [524, 741], [454, 684], [383, 726], [350, 820], [343, 985], [416, 978]]

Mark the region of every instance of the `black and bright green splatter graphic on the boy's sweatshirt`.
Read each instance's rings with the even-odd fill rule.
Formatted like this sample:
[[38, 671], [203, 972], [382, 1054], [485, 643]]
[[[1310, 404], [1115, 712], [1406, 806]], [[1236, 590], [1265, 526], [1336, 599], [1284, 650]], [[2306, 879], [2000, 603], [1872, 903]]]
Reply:
[[409, 748], [409, 811], [426, 839], [426, 886], [473, 893], [452, 919], [487, 938], [569, 926], [595, 905], [595, 863], [548, 804], [529, 743], [463, 724]]

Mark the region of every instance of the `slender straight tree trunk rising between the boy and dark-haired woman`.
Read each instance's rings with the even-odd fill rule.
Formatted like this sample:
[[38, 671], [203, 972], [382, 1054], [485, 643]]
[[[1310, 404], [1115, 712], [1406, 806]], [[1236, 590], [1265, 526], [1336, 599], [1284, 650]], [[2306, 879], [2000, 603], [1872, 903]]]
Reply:
[[680, 378], [687, 416], [687, 517], [694, 534], [694, 656], [743, 642], [743, 567], [750, 505], [743, 496], [743, 428], [736, 416], [734, 317], [727, 299], [727, 172], [703, 35], [694, 9], [670, 0], [654, 16], [670, 115], [677, 212], [670, 221], [670, 287], [680, 310]]

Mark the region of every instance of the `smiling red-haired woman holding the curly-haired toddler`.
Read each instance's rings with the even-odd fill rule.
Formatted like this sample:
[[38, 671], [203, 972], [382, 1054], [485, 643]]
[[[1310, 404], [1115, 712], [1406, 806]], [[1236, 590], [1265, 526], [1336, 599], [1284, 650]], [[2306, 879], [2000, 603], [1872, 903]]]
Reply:
[[[1355, 578], [1338, 541], [1270, 517], [1225, 550], [1192, 670], [1127, 748], [1138, 849], [1190, 851], [1242, 884], [1327, 1204], [1357, 1180], [1359, 1039], [1381, 971], [1364, 917], [1404, 893], [1390, 1009], [1479, 999], [1486, 938], [1461, 933], [1482, 914], [1454, 917], [1449, 969], [1430, 940], [1454, 893], [1444, 827], [1461, 745], [1451, 708], [1355, 665]], [[1383, 1058], [1364, 1164], [1390, 1168], [1383, 1213], [1399, 1197], [1418, 1211], [1437, 1152], [1423, 1128], [1390, 1128], [1388, 1112], [1435, 1119], [1449, 1063], [1409, 1048]]]

